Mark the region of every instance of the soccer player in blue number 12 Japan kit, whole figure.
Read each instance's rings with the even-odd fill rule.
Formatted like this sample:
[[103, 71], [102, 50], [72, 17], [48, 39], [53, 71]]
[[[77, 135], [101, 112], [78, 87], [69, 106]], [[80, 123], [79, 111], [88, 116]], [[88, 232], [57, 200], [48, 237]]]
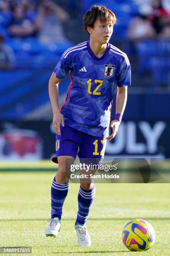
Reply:
[[[125, 53], [109, 44], [115, 14], [103, 6], [94, 5], [83, 17], [90, 41], [67, 49], [62, 54], [49, 81], [49, 95], [56, 131], [58, 171], [51, 186], [51, 219], [46, 236], [57, 236], [60, 230], [62, 206], [67, 196], [66, 159], [100, 159], [106, 141], [115, 137], [125, 110], [127, 87], [130, 85], [130, 63]], [[59, 110], [58, 84], [70, 72], [67, 99]], [[117, 86], [116, 115], [110, 123], [110, 110]], [[112, 134], [109, 136], [109, 125]], [[95, 196], [94, 183], [80, 181], [78, 212], [75, 221], [80, 246], [90, 246], [85, 223]]]

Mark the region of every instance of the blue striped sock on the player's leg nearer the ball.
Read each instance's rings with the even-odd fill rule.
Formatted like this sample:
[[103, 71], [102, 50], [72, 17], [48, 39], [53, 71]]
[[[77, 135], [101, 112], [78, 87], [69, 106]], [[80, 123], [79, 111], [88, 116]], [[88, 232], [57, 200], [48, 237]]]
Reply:
[[95, 186], [90, 190], [80, 187], [78, 192], [78, 212], [76, 225], [85, 225], [95, 197]]

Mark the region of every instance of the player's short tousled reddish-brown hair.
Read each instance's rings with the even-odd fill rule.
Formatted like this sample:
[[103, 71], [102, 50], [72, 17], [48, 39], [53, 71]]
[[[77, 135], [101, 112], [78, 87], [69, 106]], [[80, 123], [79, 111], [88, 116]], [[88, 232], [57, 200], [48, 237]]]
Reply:
[[105, 6], [93, 5], [82, 18], [85, 29], [87, 30], [87, 27], [93, 28], [97, 19], [103, 23], [107, 21], [112, 21], [113, 25], [116, 23], [115, 13], [107, 9]]

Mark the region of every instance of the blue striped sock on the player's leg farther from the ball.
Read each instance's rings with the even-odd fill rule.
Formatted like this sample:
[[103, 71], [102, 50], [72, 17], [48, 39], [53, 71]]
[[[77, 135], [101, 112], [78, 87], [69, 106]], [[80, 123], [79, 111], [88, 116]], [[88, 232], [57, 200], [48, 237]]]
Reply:
[[55, 177], [51, 185], [51, 218], [58, 217], [61, 219], [62, 206], [68, 192], [68, 182], [59, 184], [55, 181]]

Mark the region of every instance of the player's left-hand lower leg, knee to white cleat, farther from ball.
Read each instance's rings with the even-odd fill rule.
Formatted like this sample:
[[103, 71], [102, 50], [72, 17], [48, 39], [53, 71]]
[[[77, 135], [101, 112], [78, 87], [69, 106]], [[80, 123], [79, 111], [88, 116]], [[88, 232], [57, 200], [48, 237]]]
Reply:
[[52, 181], [51, 187], [51, 218], [47, 219], [50, 222], [45, 230], [46, 236], [57, 236], [61, 227], [62, 206], [68, 192], [68, 177], [66, 175], [66, 160], [72, 159], [72, 156], [58, 156], [58, 171]]

